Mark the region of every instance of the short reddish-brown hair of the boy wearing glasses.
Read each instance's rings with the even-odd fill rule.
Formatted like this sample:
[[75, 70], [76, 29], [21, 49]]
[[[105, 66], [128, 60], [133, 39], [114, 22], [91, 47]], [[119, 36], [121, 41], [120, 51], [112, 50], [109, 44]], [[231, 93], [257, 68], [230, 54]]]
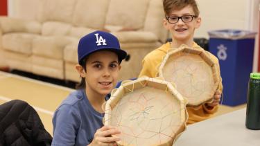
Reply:
[[194, 15], [200, 15], [200, 10], [198, 10], [198, 5], [195, 0], [163, 0], [164, 14], [169, 16], [173, 10], [181, 10], [186, 6], [191, 6], [194, 11]]

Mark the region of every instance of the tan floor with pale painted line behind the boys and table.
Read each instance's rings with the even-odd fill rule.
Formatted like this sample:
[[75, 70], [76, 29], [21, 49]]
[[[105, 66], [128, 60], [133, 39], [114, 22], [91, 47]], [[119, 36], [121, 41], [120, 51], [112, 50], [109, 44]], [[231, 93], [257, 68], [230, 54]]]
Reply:
[[[42, 77], [33, 78], [42, 80]], [[52, 79], [48, 79], [47, 82], [50, 80], [53, 83], [62, 84], [62, 82]], [[66, 86], [71, 86], [71, 84]], [[71, 91], [74, 91], [74, 89], [23, 77], [21, 74], [15, 75], [0, 71], [0, 104], [15, 99], [28, 102], [36, 109], [50, 134], [52, 134], [53, 130], [51, 123], [53, 112]], [[237, 107], [220, 105], [218, 112], [214, 116], [241, 109], [245, 106], [246, 104]]]

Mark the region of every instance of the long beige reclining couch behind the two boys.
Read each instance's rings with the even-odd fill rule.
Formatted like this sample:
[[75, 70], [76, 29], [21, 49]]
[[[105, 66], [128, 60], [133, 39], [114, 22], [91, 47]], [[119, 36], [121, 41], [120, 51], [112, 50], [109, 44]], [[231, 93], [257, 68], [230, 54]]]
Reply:
[[0, 18], [0, 53], [10, 69], [37, 75], [78, 82], [74, 69], [78, 40], [94, 30], [108, 30], [130, 55], [122, 62], [120, 80], [137, 77], [144, 55], [167, 37], [160, 0], [15, 0], [13, 4], [16, 15]]

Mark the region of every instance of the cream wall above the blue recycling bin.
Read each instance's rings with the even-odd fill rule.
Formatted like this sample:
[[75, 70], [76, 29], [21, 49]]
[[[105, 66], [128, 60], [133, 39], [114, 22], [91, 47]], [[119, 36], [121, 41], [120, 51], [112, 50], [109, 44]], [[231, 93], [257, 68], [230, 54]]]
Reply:
[[202, 25], [196, 37], [208, 37], [209, 30], [248, 27], [248, 0], [198, 0], [198, 6]]

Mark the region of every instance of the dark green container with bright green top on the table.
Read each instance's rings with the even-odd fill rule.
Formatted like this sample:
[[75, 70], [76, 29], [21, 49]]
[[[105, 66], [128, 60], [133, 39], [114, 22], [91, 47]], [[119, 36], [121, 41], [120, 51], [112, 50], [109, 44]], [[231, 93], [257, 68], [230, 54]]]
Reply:
[[250, 73], [245, 126], [248, 129], [260, 129], [260, 73]]

